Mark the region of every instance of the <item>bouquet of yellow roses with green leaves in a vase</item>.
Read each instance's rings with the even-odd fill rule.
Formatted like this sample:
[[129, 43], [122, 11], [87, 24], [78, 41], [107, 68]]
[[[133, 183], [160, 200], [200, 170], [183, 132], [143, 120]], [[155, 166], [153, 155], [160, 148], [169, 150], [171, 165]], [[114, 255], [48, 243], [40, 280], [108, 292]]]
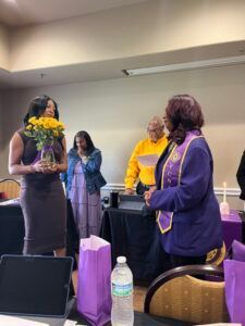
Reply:
[[54, 154], [52, 150], [53, 140], [62, 137], [64, 134], [64, 124], [54, 117], [30, 117], [25, 127], [25, 135], [33, 138], [38, 150], [38, 158], [46, 163], [54, 164]]

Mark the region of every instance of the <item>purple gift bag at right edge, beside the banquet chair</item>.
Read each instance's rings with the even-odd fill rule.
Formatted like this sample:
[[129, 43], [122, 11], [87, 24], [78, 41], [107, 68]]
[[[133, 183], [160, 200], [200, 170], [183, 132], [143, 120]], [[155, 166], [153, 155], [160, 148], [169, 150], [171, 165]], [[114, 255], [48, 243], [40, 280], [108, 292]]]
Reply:
[[225, 301], [232, 323], [245, 326], [245, 262], [224, 260]]

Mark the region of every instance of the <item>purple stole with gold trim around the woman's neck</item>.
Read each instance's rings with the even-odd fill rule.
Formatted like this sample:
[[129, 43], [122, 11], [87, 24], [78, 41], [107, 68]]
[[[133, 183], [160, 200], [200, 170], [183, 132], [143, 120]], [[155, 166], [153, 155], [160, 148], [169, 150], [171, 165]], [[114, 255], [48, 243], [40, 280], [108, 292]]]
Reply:
[[[180, 186], [182, 165], [188, 150], [191, 142], [196, 138], [204, 138], [197, 136], [196, 131], [188, 131], [182, 145], [175, 145], [169, 154], [162, 167], [161, 189]], [[172, 228], [172, 220], [174, 212], [159, 211], [157, 214], [157, 222], [162, 234], [166, 234]]]

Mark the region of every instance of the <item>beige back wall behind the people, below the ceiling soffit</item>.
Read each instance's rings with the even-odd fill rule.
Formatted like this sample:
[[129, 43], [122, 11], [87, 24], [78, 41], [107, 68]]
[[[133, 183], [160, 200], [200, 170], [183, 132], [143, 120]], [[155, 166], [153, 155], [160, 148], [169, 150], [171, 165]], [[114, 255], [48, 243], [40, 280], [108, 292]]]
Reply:
[[[122, 184], [127, 159], [145, 137], [147, 121], [162, 115], [168, 98], [192, 93], [203, 105], [204, 133], [215, 159], [215, 186], [225, 180], [236, 188], [238, 162], [245, 143], [245, 65], [175, 72], [140, 77], [4, 91], [1, 176], [5, 176], [11, 135], [21, 126], [29, 99], [48, 93], [60, 104], [68, 147], [74, 134], [87, 130], [102, 150], [102, 172], [109, 184]], [[200, 166], [201, 168], [201, 166]]]

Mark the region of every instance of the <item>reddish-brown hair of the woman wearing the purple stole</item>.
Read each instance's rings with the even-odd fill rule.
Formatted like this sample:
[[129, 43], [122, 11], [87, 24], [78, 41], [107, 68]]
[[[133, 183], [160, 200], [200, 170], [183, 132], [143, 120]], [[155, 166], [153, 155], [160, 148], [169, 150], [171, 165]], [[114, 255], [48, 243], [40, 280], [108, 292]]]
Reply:
[[185, 140], [186, 131], [199, 130], [204, 125], [204, 115], [200, 104], [189, 95], [177, 95], [169, 100], [166, 108], [168, 121], [173, 128], [170, 130], [169, 139], [177, 145]]

